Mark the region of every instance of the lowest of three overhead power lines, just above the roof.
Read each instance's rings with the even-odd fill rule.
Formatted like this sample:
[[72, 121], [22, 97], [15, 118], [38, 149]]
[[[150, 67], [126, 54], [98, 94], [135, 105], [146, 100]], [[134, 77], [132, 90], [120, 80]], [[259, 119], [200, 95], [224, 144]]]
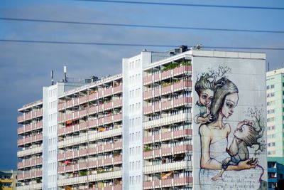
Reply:
[[[167, 47], [167, 48], [176, 48], [176, 47], [178, 47], [178, 46], [174, 46], [174, 45], [139, 44], [139, 43], [97, 43], [97, 42], [27, 41], [27, 40], [25, 41], [25, 40], [9, 40], [9, 39], [0, 39], [0, 42], [12, 42], [12, 43], [51, 43], [51, 44], [94, 45], [94, 46], [140, 46], [140, 47]], [[256, 47], [229, 47], [229, 46], [203, 46], [203, 48], [284, 51], [284, 48], [256, 48]]]

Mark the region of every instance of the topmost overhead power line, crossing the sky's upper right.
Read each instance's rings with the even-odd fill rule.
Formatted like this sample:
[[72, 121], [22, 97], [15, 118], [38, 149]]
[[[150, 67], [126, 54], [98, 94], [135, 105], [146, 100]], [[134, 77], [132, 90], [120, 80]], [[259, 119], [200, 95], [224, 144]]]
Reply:
[[224, 8], [224, 9], [272, 9], [284, 10], [284, 7], [269, 7], [269, 6], [230, 6], [230, 5], [213, 5], [213, 4], [178, 4], [178, 3], [158, 3], [147, 1], [111, 1], [111, 0], [76, 0], [76, 1], [94, 1], [103, 3], [116, 4], [148, 4], [148, 5], [165, 5], [165, 6], [197, 6], [207, 8]]

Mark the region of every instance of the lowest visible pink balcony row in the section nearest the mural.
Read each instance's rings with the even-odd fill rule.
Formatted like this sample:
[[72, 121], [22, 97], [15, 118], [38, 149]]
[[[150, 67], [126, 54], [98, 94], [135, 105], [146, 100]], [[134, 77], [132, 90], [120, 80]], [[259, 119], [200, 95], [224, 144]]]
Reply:
[[160, 189], [165, 187], [185, 186], [185, 185], [192, 186], [192, 177], [145, 181], [143, 183], [144, 189]]

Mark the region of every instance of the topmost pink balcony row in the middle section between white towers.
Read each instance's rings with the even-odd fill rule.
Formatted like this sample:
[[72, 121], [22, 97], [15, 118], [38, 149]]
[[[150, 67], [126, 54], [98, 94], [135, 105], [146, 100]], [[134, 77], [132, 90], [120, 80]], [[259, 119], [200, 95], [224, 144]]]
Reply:
[[58, 104], [58, 110], [64, 110], [74, 105], [80, 105], [88, 101], [97, 100], [102, 97], [107, 97], [110, 95], [115, 95], [122, 92], [122, 85], [116, 86], [114, 88], [107, 88], [105, 90], [94, 92], [90, 95], [84, 95], [82, 97], [73, 98], [67, 102], [60, 102]]

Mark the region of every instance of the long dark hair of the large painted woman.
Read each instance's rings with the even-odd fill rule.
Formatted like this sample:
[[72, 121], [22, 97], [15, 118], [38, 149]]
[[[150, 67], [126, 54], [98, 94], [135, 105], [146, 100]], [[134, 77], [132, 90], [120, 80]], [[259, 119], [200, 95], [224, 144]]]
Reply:
[[212, 122], [217, 120], [219, 112], [224, 105], [224, 101], [227, 95], [239, 93], [236, 85], [227, 78], [220, 78], [215, 83], [215, 91], [212, 99], [210, 114], [212, 115]]

